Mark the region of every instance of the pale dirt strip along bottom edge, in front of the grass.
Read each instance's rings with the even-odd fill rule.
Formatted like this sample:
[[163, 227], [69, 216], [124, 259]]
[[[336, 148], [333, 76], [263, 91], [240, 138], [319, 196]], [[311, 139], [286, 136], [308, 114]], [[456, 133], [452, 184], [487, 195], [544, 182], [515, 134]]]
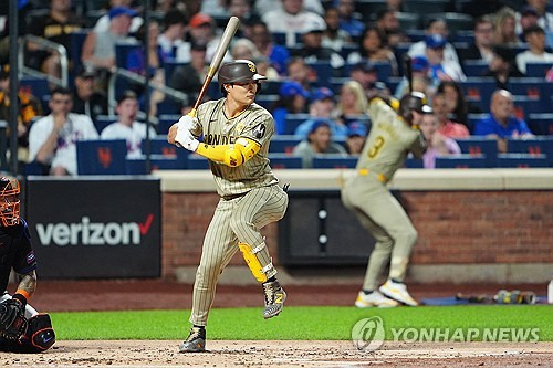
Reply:
[[41, 355], [0, 354], [7, 367], [549, 367], [553, 343], [390, 344], [359, 353], [351, 341], [208, 341], [179, 354], [179, 341], [59, 341]]

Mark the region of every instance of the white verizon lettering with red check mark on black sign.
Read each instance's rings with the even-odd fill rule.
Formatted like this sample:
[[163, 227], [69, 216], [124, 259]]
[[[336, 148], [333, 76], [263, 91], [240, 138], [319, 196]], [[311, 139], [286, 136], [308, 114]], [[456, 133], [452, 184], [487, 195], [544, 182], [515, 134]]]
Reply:
[[38, 223], [36, 233], [42, 245], [138, 245], [154, 220], [148, 214], [144, 223], [91, 222], [83, 217], [79, 223]]

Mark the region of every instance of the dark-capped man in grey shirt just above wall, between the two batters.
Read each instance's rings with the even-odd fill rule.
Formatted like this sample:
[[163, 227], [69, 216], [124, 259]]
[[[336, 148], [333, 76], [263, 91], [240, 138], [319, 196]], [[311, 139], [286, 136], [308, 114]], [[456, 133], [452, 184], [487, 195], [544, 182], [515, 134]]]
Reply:
[[302, 158], [303, 168], [312, 168], [315, 155], [326, 154], [347, 156], [342, 145], [332, 141], [331, 123], [319, 118], [311, 125], [307, 139], [294, 147], [292, 156]]

